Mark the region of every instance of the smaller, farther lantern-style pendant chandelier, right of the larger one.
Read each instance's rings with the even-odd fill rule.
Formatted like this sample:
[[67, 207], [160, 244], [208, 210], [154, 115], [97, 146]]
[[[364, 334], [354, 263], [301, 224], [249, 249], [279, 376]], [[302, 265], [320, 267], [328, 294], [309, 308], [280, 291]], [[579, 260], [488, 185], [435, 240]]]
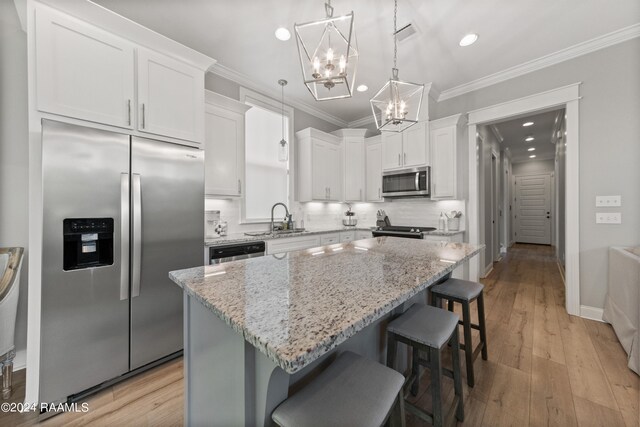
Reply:
[[424, 85], [398, 78], [398, 0], [393, 10], [393, 68], [391, 79], [371, 98], [371, 110], [380, 131], [402, 132], [418, 123]]

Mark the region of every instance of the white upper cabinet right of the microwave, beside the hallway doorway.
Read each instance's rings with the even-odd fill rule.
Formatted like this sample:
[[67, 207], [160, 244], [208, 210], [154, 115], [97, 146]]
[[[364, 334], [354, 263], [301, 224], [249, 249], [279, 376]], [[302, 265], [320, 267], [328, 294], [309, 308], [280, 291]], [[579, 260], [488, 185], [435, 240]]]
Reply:
[[[465, 168], [466, 147], [462, 116], [434, 120], [431, 125], [431, 199], [462, 198], [461, 172]], [[458, 163], [460, 162], [460, 165]]]

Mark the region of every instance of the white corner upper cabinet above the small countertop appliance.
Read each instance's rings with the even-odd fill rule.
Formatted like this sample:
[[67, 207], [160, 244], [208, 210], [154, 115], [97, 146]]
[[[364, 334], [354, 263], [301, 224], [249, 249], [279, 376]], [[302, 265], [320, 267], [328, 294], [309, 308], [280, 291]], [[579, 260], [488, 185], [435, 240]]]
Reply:
[[340, 129], [332, 132], [342, 138], [343, 176], [345, 202], [364, 202], [365, 199], [365, 155], [364, 135], [366, 129]]

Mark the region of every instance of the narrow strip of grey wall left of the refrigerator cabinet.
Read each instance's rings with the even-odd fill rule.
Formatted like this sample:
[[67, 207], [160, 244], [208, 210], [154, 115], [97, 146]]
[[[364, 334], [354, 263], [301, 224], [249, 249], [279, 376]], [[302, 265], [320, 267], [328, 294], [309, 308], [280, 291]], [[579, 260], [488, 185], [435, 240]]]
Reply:
[[[27, 248], [29, 141], [27, 35], [13, 1], [0, 1], [0, 247]], [[14, 368], [24, 367], [27, 345], [28, 251], [22, 264]]]

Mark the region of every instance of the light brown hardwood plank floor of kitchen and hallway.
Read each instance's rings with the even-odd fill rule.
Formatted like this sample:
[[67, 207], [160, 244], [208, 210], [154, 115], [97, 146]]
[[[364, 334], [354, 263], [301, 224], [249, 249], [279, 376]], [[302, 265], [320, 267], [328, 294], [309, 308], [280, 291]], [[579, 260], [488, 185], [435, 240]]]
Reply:
[[[567, 315], [551, 248], [514, 246], [483, 283], [489, 360], [476, 360], [473, 389], [463, 382], [465, 422], [460, 425], [640, 425], [640, 377], [627, 368], [609, 325]], [[473, 338], [478, 339], [475, 331]], [[24, 371], [16, 373], [14, 384], [12, 401], [20, 402]], [[425, 408], [431, 405], [428, 391], [427, 372], [415, 398]], [[448, 378], [443, 394], [445, 400], [453, 398]], [[87, 413], [41, 422], [33, 413], [0, 412], [0, 425], [182, 425], [182, 360], [115, 385], [87, 403]], [[421, 425], [426, 424], [408, 416], [408, 426]]]

